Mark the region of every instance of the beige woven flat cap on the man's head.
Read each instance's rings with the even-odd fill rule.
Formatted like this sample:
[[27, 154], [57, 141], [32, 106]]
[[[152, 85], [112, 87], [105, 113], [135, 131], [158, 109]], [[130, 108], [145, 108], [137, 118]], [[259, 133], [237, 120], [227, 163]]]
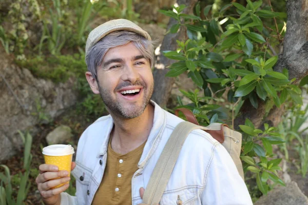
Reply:
[[100, 39], [102, 39], [107, 34], [113, 32], [113, 31], [120, 31], [120, 30], [127, 30], [136, 32], [142, 36], [144, 36], [146, 39], [151, 40], [150, 35], [144, 31], [142, 28], [137, 26], [136, 24], [132, 23], [130, 20], [127, 19], [115, 19], [115, 20], [109, 20], [109, 22], [106, 22], [95, 29], [93, 29], [88, 38], [87, 38], [87, 44], [86, 44], [86, 56], [90, 49], [99, 42]]

